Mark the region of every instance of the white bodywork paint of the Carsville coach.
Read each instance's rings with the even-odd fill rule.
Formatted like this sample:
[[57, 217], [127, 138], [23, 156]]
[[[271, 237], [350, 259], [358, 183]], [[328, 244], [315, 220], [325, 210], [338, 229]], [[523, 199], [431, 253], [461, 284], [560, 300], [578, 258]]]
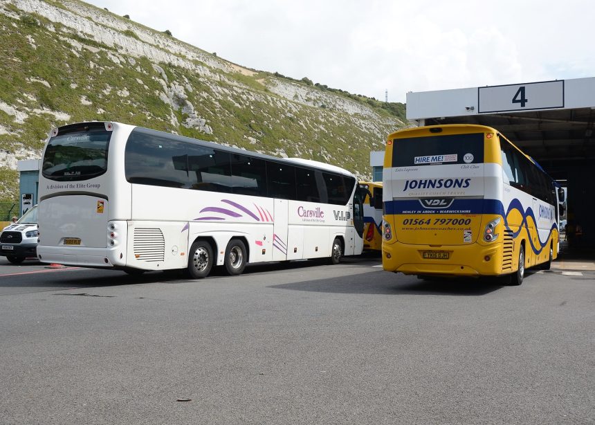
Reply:
[[[186, 266], [190, 246], [197, 237], [214, 241], [218, 265], [223, 264], [226, 246], [234, 237], [246, 241], [249, 262], [329, 257], [336, 236], [345, 241], [346, 254], [361, 253], [363, 240], [354, 230], [351, 201], [340, 206], [129, 183], [125, 179], [124, 152], [132, 129], [130, 125], [113, 123], [109, 171], [100, 177], [62, 183], [40, 175], [39, 226], [43, 236], [38, 253], [42, 261], [93, 267], [181, 269]], [[347, 170], [332, 165], [302, 159], [291, 161], [355, 179]], [[104, 202], [102, 214], [97, 213], [100, 200]], [[232, 214], [220, 213], [218, 208]], [[109, 237], [111, 226], [116, 235], [113, 245]], [[134, 235], [141, 229], [163, 235], [163, 260], [147, 260], [144, 254], [135, 253]], [[275, 234], [279, 243], [274, 242]], [[80, 237], [82, 244], [64, 246], [64, 237]]]

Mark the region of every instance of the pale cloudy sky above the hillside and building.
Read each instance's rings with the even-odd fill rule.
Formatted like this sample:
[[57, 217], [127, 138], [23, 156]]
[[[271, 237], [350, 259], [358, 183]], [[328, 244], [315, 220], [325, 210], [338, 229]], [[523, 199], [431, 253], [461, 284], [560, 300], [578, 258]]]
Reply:
[[259, 71], [409, 91], [595, 76], [592, 0], [93, 0]]

